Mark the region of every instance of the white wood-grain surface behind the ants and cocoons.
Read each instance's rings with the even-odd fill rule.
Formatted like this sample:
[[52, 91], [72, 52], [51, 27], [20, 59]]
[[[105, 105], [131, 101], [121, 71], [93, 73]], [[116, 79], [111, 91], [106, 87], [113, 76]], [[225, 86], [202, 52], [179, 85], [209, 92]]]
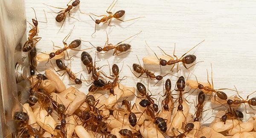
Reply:
[[[44, 11], [59, 11], [55, 8], [50, 8], [42, 3], [46, 3], [56, 7], [66, 7], [68, 0], [26, 0], [27, 20], [31, 22], [34, 18], [34, 13], [30, 7], [35, 8], [38, 20], [45, 20]], [[112, 0], [81, 0], [80, 9], [85, 13], [92, 12], [94, 14], [106, 14], [106, 9]], [[38, 51], [51, 51], [52, 42], [62, 46], [62, 39], [68, 34], [70, 29], [75, 25], [72, 35], [67, 40], [71, 42], [73, 39], [81, 37], [84, 40], [89, 40], [94, 45], [104, 45], [106, 33], [108, 32], [110, 42], [115, 44], [133, 34], [143, 31], [139, 36], [129, 39], [127, 42], [132, 45], [131, 52], [123, 56], [111, 56], [112, 52], [105, 55], [97, 55], [97, 59], [101, 62], [97, 64], [107, 64], [106, 59], [112, 65], [116, 63], [119, 67], [124, 62], [121, 76], [132, 76], [131, 71], [126, 65], [131, 66], [133, 63], [138, 63], [136, 55], [139, 56], [140, 62], [144, 56], [152, 55], [153, 53], [146, 47], [145, 41], [158, 54], [160, 50], [157, 46], [163, 48], [167, 53], [172, 54], [174, 43], [176, 43], [176, 54], [181, 56], [188, 51], [192, 46], [196, 45], [205, 39], [205, 42], [195, 48], [190, 54], [197, 56], [197, 61], [204, 61], [191, 69], [199, 81], [206, 82], [206, 69], [210, 70], [210, 63], [213, 65], [213, 80], [215, 88], [233, 88], [233, 85], [242, 91], [241, 96], [246, 96], [256, 90], [255, 78], [256, 72], [256, 1], [251, 0], [119, 0], [112, 11], [123, 9], [126, 11], [124, 20], [143, 16], [140, 20], [120, 23], [113, 20], [116, 27], [107, 27], [107, 25], [98, 25], [97, 32], [94, 38], [90, 35], [94, 31], [94, 22], [89, 16], [80, 14], [79, 11], [74, 11], [72, 16], [79, 20], [76, 21], [67, 17], [63, 28], [57, 34], [60, 28], [60, 23], [55, 22], [54, 13], [47, 13], [48, 23], [39, 23], [42, 40], [38, 42]], [[28, 26], [29, 29], [29, 26]], [[81, 49], [90, 47], [83, 42]], [[91, 50], [92, 56], [95, 49]], [[72, 70], [78, 72], [85, 70], [80, 60], [81, 52], [69, 51], [70, 55], [76, 55], [72, 61]], [[70, 62], [66, 62], [68, 65]], [[49, 64], [48, 64], [49, 65]], [[181, 67], [181, 66], [180, 66]], [[43, 71], [44, 63], [39, 63], [38, 68]], [[149, 68], [160, 73], [159, 66]], [[181, 67], [187, 76], [187, 70]], [[108, 67], [105, 67], [106, 73], [109, 73]], [[169, 68], [162, 68], [168, 71]], [[82, 72], [85, 76], [87, 71]], [[179, 74], [178, 74], [179, 75]], [[89, 78], [89, 77], [87, 77]], [[172, 78], [174, 88], [175, 77]], [[167, 79], [167, 77], [165, 78]], [[190, 76], [190, 79], [195, 79]], [[63, 78], [65, 84], [72, 83], [67, 76]], [[126, 80], [122, 83], [129, 86], [136, 86], [136, 82], [144, 82], [146, 85], [147, 79]], [[152, 86], [154, 82], [151, 82]], [[86, 92], [87, 87], [82, 85], [78, 87]], [[150, 87], [153, 93], [163, 93], [162, 87]], [[233, 92], [227, 92], [233, 95]], [[192, 94], [188, 98], [189, 101], [194, 98]], [[194, 105], [191, 104], [193, 107]], [[211, 104], [207, 103], [205, 109], [212, 108]], [[244, 107], [241, 107], [244, 110]], [[211, 111], [204, 113], [204, 120], [212, 116]], [[247, 118], [249, 115], [245, 115]], [[209, 120], [210, 121], [210, 120]], [[208, 121], [208, 122], [209, 122]]]

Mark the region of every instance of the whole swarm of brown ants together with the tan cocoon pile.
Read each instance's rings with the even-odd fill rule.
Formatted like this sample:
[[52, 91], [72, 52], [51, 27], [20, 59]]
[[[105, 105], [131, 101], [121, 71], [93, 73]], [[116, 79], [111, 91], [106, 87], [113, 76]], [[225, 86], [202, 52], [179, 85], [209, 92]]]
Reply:
[[[70, 4], [71, 3], [71, 4]], [[81, 14], [90, 17], [96, 26], [100, 23], [108, 23], [116, 19], [121, 22], [136, 20], [141, 17], [130, 20], [122, 20], [125, 14], [124, 10], [112, 13], [113, 7], [117, 0], [113, 1], [107, 9], [108, 15], [96, 15], [83, 13], [80, 8], [79, 0], [70, 0], [66, 8], [59, 8], [47, 5], [51, 8], [60, 9], [55, 12], [56, 22], [61, 23], [61, 30], [66, 18], [71, 17], [74, 9], [79, 9]], [[35, 12], [35, 9], [32, 8]], [[67, 16], [68, 15], [68, 16]], [[98, 19], [94, 19], [93, 16]], [[76, 19], [77, 20], [77, 19]], [[207, 83], [189, 80], [189, 75], [175, 76], [173, 75], [174, 67], [176, 72], [181, 72], [179, 63], [182, 63], [186, 71], [190, 72], [191, 67], [198, 64], [196, 56], [189, 54], [195, 47], [204, 42], [204, 40], [184, 53], [180, 58], [175, 55], [166, 54], [160, 47], [160, 50], [168, 57], [168, 59], [159, 58], [159, 55], [148, 57], [148, 60], [156, 61], [156, 65], [171, 66], [171, 71], [166, 74], [156, 74], [150, 69], [143, 67], [139, 62], [133, 65], [127, 65], [131, 70], [131, 76], [121, 76], [122, 64], [118, 63], [99, 66], [96, 56], [93, 58], [88, 49], [93, 49], [95, 55], [102, 54], [104, 56], [108, 51], [113, 51], [112, 56], [128, 54], [132, 45], [124, 43], [131, 37], [135, 37], [141, 33], [128, 37], [116, 44], [109, 43], [108, 34], [104, 46], [95, 46], [89, 41], [81, 38], [75, 39], [68, 43], [68, 39], [72, 34], [73, 28], [64, 37], [63, 47], [55, 46], [58, 50], [49, 52], [49, 54], [41, 52], [37, 55], [36, 44], [41, 41], [38, 37], [38, 23], [47, 23], [32, 19], [29, 23], [32, 27], [29, 30], [28, 40], [23, 45], [23, 52], [28, 52], [30, 75], [26, 80], [30, 82], [29, 99], [25, 104], [21, 104], [22, 110], [15, 112], [13, 120], [18, 124], [18, 132], [12, 133], [13, 137], [18, 138], [255, 138], [256, 137], [256, 118], [252, 116], [248, 121], [242, 121], [244, 114], [238, 109], [244, 104], [247, 114], [247, 105], [256, 106], [256, 97], [251, 97], [254, 93], [247, 96], [246, 99], [239, 95], [239, 91], [230, 88], [214, 88], [213, 80], [209, 82], [207, 70]], [[92, 36], [93, 36], [92, 34]], [[81, 43], [90, 44], [90, 48], [77, 49]], [[148, 44], [146, 44], [148, 46]], [[150, 48], [148, 46], [148, 48]], [[150, 48], [151, 49], [151, 48]], [[175, 49], [175, 48], [174, 48]], [[69, 56], [67, 51], [81, 51], [81, 55]], [[77, 75], [65, 60], [72, 61], [74, 56], [81, 58], [81, 64], [84, 65], [84, 72], [90, 79], [85, 79], [84, 75]], [[147, 57], [145, 57], [147, 58]], [[147, 60], [147, 61], [148, 61]], [[47, 61], [47, 62], [46, 62]], [[144, 59], [143, 59], [144, 61]], [[146, 61], [146, 60], [145, 60]], [[45, 73], [37, 70], [38, 62], [46, 62], [50, 64], [51, 69], [46, 69]], [[151, 62], [144, 64], [152, 64]], [[56, 67], [56, 66], [57, 67]], [[153, 64], [152, 64], [153, 65]], [[104, 66], [109, 67], [109, 75], [103, 70]], [[212, 66], [212, 65], [211, 65]], [[67, 74], [70, 81], [68, 88], [59, 77]], [[211, 74], [212, 76], [212, 74]], [[169, 78], [168, 78], [169, 77]], [[148, 79], [148, 84], [143, 84], [142, 78]], [[165, 79], [167, 78], [167, 79]], [[136, 80], [134, 87], [124, 86], [123, 80]], [[171, 80], [175, 80], [172, 82]], [[148, 88], [149, 82], [155, 82], [154, 87], [163, 87], [162, 93], [153, 95]], [[160, 84], [162, 83], [162, 84]], [[175, 87], [172, 88], [172, 83]], [[88, 88], [81, 92], [75, 86], [86, 85]], [[147, 87], [146, 87], [147, 86]], [[226, 90], [232, 91], [236, 96], [228, 97]], [[197, 95], [194, 100], [195, 113], [189, 112], [189, 101], [186, 100], [185, 94]], [[162, 98], [157, 99], [156, 96]], [[134, 98], [134, 101], [132, 101]], [[15, 98], [17, 100], [17, 98]], [[18, 100], [17, 100], [18, 101]], [[204, 105], [207, 101], [224, 107], [226, 111], [219, 111], [210, 125], [205, 125], [208, 119], [203, 118], [203, 114], [207, 110]], [[216, 107], [218, 108], [218, 107]]]

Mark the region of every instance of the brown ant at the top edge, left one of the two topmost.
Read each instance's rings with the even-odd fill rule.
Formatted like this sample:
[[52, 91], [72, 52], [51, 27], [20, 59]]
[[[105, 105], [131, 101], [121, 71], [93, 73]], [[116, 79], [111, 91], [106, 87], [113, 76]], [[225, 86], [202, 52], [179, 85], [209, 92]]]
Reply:
[[[59, 12], [53, 12], [53, 13], [56, 13], [56, 14], [57, 14], [56, 17], [55, 17], [56, 22], [61, 23], [61, 22], [63, 21], [63, 23], [61, 24], [61, 28], [62, 28], [62, 26], [63, 26], [63, 24], [64, 24], [64, 22], [65, 22], [65, 20], [66, 20], [67, 13], [68, 13], [69, 17], [71, 17], [71, 16], [70, 16], [70, 13], [71, 13], [73, 7], [75, 7], [74, 9], [78, 8], [79, 11], [80, 11], [80, 13], [81, 13], [81, 14], [84, 14], [84, 13], [81, 12], [81, 10], [80, 10], [80, 8], [79, 8], [80, 0], [74, 0], [71, 5], [68, 5], [71, 1], [72, 1], [72, 0], [70, 0], [70, 1], [67, 3], [67, 8], [60, 8], [60, 7], [50, 6], [50, 5], [47, 5], [47, 4], [43, 3], [43, 4], [46, 5], [46, 6], [50, 6], [50, 7], [53, 7], [53, 8], [61, 9], [61, 11], [59, 11]], [[73, 10], [74, 10], [74, 9], [73, 9]], [[71, 18], [73, 18], [73, 19], [75, 19], [75, 20], [78, 20], [78, 19], [76, 19], [76, 18], [74, 18], [74, 17], [71, 17]], [[78, 21], [79, 21], [79, 20], [78, 20]], [[61, 28], [58, 30], [58, 32], [61, 30]]]

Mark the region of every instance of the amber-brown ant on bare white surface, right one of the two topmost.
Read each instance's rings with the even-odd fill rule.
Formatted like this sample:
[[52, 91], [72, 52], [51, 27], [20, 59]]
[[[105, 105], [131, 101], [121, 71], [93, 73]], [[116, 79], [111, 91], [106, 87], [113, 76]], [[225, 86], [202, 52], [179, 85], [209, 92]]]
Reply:
[[[93, 14], [94, 16], [96, 16], [96, 17], [102, 17], [100, 20], [94, 20], [94, 19], [89, 15], [90, 18], [95, 22], [95, 28], [94, 28], [93, 34], [96, 33], [96, 25], [98, 25], [98, 24], [100, 24], [100, 23], [103, 23], [103, 24], [108, 23], [108, 26], [115, 26], [115, 25], [110, 25], [112, 18], [115, 18], [116, 20], [119, 20], [119, 21], [121, 21], [121, 22], [127, 22], [127, 21], [136, 20], [136, 19], [141, 18], [141, 17], [137, 17], [137, 18], [130, 19], [130, 20], [125, 20], [125, 21], [124, 21], [124, 20], [121, 20], [120, 18], [125, 14], [125, 11], [124, 11], [124, 10], [116, 11], [116, 13], [114, 13], [114, 14], [111, 12], [112, 8], [116, 5], [117, 1], [118, 1], [118, 0], [116, 0], [116, 2], [115, 2], [115, 0], [113, 0], [113, 2], [111, 3], [111, 5], [108, 7], [108, 9], [107, 9], [107, 11], [106, 11], [106, 12], [108, 13], [108, 15], [100, 15], [100, 16], [98, 16], [98, 15], [96, 15], [96, 14], [90, 13], [90, 14]], [[115, 2], [115, 3], [114, 3], [114, 2]], [[113, 5], [113, 6], [112, 6], [112, 5]], [[111, 6], [112, 6], [112, 7], [111, 7]], [[91, 35], [92, 37], [93, 37], [93, 34]]]

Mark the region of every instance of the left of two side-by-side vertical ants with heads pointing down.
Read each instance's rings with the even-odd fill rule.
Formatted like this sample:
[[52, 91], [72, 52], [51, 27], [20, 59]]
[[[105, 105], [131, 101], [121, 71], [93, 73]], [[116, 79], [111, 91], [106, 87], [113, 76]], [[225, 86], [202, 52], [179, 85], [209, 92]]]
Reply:
[[170, 80], [170, 79], [167, 79], [167, 80], [166, 80], [166, 83], [165, 83], [166, 92], [165, 92], [165, 94], [163, 95], [163, 96], [166, 96], [166, 98], [163, 99], [163, 102], [164, 102], [164, 104], [163, 104], [163, 109], [164, 109], [164, 110], [167, 110], [167, 111], [169, 111], [169, 109], [172, 109], [172, 107], [169, 108], [169, 102], [172, 103], [171, 106], [174, 105], [174, 101], [173, 101], [174, 98], [173, 98], [173, 96], [172, 96], [171, 87], [172, 87], [171, 80]]

